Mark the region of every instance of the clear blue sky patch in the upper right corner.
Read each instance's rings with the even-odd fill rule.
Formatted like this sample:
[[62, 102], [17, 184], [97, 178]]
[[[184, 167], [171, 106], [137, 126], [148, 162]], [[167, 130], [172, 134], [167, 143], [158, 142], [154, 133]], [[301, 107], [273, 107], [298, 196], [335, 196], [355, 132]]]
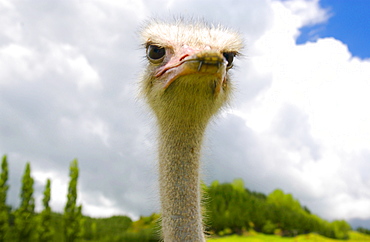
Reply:
[[370, 1], [321, 0], [320, 5], [329, 10], [330, 19], [326, 23], [303, 27], [297, 43], [317, 37], [334, 37], [345, 43], [354, 56], [370, 58]]

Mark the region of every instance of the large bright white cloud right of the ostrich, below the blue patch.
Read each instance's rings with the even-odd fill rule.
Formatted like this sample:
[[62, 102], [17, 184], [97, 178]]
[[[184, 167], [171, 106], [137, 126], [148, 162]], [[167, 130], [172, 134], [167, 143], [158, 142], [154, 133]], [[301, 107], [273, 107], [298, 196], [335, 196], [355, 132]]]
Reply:
[[[236, 113], [254, 132], [266, 138], [264, 142], [279, 149], [286, 162], [292, 162], [278, 168], [277, 173], [298, 168], [298, 175], [287, 175], [292, 181], [301, 181], [303, 187], [294, 188], [284, 181], [277, 184], [294, 191], [293, 194], [307, 189], [305, 192], [324, 199], [314, 211], [332, 219], [349, 219], [369, 211], [364, 206], [369, 195], [356, 198], [353, 190], [357, 186], [365, 191], [369, 182], [368, 175], [361, 173], [365, 162], [358, 160], [356, 154], [370, 147], [370, 115], [366, 112], [370, 103], [370, 62], [352, 57], [347, 46], [333, 38], [295, 44], [299, 27], [326, 20], [322, 10], [314, 9], [317, 7], [317, 1], [273, 3], [274, 25], [257, 40], [257, 57], [251, 57], [258, 72], [270, 72], [271, 86]], [[299, 112], [282, 112], [287, 106]], [[274, 125], [277, 120], [278, 126]], [[282, 128], [290, 133], [281, 133]], [[318, 149], [318, 154], [307, 156], [307, 149]], [[276, 162], [275, 155], [269, 157], [271, 163]], [[354, 164], [361, 168], [350, 169]], [[351, 176], [361, 177], [362, 181], [352, 183], [349, 170]], [[348, 199], [341, 199], [347, 196]], [[337, 208], [329, 209], [332, 206], [346, 209], [339, 212]]]

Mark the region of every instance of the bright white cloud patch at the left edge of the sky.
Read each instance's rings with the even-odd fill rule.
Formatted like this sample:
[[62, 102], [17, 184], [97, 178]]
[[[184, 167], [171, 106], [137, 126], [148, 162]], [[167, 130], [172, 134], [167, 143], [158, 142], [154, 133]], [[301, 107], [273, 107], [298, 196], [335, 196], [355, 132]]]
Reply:
[[44, 41], [43, 49], [9, 44], [0, 48], [0, 85], [14, 85], [17, 81], [41, 82], [47, 75], [68, 75], [67, 81], [76, 83], [79, 89], [101, 87], [99, 74], [86, 57], [72, 46]]

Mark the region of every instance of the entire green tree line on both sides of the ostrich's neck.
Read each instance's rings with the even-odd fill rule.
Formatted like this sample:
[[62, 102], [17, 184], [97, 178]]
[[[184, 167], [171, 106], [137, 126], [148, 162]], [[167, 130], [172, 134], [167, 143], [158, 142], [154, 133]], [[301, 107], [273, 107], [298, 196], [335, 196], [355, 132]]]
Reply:
[[[13, 209], [6, 204], [8, 162], [3, 156], [0, 174], [0, 242], [3, 241], [160, 241], [159, 215], [152, 214], [132, 221], [127, 216], [91, 218], [83, 216], [77, 204], [78, 161], [70, 164], [69, 186], [64, 213], [55, 213], [49, 206], [51, 180], [43, 192], [43, 210], [35, 212], [34, 179], [31, 165], [26, 164], [22, 177], [20, 205]], [[257, 231], [280, 236], [318, 233], [335, 239], [348, 239], [350, 225], [344, 220], [325, 221], [302, 206], [291, 194], [275, 190], [269, 195], [245, 188], [241, 179], [220, 184], [203, 185], [205, 224], [210, 235], [248, 234]], [[369, 230], [360, 228], [362, 233]]]

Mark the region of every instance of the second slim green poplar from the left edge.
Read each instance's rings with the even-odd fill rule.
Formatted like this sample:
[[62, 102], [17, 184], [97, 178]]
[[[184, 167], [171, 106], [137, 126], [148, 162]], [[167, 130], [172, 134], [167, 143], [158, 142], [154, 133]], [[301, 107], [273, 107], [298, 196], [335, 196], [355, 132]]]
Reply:
[[19, 241], [35, 241], [35, 199], [30, 163], [26, 164], [22, 179], [21, 205], [15, 212], [15, 228]]

